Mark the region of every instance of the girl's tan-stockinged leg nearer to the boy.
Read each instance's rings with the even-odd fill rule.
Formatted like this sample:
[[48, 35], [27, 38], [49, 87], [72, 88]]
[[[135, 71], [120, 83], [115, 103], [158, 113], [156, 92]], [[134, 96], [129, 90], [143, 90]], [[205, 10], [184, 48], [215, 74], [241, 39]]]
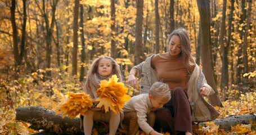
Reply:
[[109, 120], [109, 135], [114, 135], [118, 130], [120, 124], [120, 113], [114, 113], [110, 111], [110, 120]]

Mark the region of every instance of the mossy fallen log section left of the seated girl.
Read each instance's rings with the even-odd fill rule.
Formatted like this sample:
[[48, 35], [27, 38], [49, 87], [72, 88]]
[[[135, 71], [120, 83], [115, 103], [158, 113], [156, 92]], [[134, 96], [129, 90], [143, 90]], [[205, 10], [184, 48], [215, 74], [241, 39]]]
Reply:
[[79, 118], [62, 118], [62, 115], [55, 115], [55, 111], [39, 106], [17, 107], [16, 120], [31, 123], [29, 128], [34, 130], [44, 129], [57, 134], [84, 134], [80, 129]]

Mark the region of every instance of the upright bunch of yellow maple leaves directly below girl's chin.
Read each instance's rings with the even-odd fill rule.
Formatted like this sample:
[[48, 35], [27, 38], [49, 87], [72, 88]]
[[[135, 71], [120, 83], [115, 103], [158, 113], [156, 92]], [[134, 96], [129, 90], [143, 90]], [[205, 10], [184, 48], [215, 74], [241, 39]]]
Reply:
[[99, 101], [96, 107], [101, 108], [104, 106], [105, 112], [109, 109], [115, 113], [122, 111], [124, 103], [128, 101], [131, 97], [126, 95], [128, 88], [124, 87], [124, 84], [118, 82], [118, 77], [113, 75], [109, 81], [101, 80], [100, 88], [97, 89], [96, 101]]

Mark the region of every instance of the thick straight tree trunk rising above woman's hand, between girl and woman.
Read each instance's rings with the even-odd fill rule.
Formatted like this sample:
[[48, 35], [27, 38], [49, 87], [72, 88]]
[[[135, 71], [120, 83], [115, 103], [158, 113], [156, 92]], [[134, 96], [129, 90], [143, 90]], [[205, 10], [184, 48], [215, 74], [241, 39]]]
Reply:
[[142, 52], [142, 21], [143, 21], [143, 0], [136, 0], [136, 22], [135, 22], [135, 60], [134, 65], [143, 61]]

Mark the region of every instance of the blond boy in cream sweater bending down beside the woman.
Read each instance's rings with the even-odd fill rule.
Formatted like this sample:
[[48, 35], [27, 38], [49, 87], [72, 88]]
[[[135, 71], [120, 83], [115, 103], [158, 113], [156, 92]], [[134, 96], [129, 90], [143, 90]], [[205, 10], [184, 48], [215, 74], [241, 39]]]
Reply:
[[129, 134], [136, 134], [139, 127], [146, 134], [161, 134], [152, 128], [155, 123], [154, 111], [163, 107], [169, 100], [169, 86], [162, 82], [155, 82], [149, 93], [132, 97], [123, 108], [123, 124], [129, 125]]

